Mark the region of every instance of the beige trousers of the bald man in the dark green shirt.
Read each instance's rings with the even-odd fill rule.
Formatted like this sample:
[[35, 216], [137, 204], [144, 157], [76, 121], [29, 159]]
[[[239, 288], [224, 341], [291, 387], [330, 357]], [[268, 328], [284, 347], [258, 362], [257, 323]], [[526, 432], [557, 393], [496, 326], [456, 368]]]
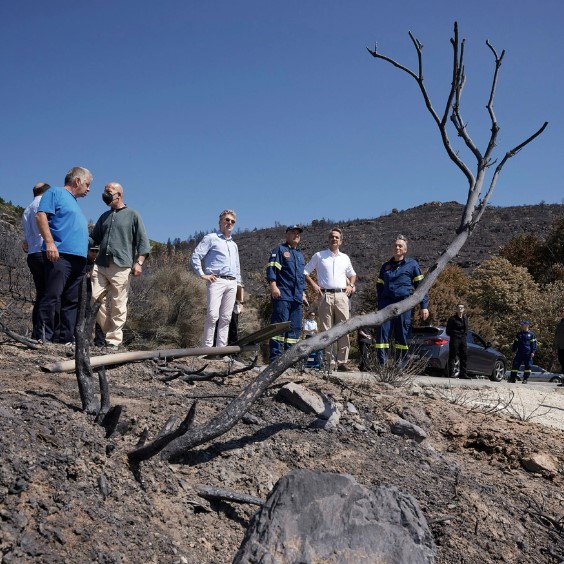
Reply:
[[131, 267], [118, 266], [113, 261], [110, 266], [94, 265], [92, 269], [92, 302], [100, 296], [107, 296], [110, 301], [109, 314], [105, 297], [101, 300], [96, 321], [106, 334], [109, 345], [121, 345], [123, 326], [127, 319], [127, 298], [131, 280]]

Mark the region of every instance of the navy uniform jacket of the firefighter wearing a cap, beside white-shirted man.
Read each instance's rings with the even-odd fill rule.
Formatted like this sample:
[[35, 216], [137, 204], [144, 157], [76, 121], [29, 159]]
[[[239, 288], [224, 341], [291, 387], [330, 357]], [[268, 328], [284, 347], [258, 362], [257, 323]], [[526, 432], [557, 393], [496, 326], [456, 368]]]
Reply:
[[266, 266], [266, 279], [276, 281], [280, 290], [280, 300], [303, 301], [305, 290], [305, 259], [302, 252], [292, 249], [285, 243], [272, 249], [270, 261]]

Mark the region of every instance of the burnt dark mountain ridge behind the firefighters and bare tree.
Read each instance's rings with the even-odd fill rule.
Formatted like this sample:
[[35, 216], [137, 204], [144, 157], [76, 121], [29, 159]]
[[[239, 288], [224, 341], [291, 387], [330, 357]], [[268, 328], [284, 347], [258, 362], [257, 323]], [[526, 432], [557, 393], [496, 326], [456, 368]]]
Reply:
[[[341, 249], [351, 257], [362, 289], [381, 263], [390, 258], [392, 242], [400, 233], [408, 239], [409, 256], [417, 259], [423, 269], [430, 267], [454, 238], [462, 210], [458, 202], [429, 202], [373, 219], [336, 223], [314, 220], [304, 226], [300, 248], [308, 260], [315, 252], [327, 248], [329, 230], [337, 225], [343, 230]], [[554, 219], [562, 215], [562, 204], [488, 207], [454, 263], [471, 271], [488, 257], [497, 255], [500, 247], [518, 234], [545, 237]], [[266, 268], [271, 249], [284, 236], [285, 226], [235, 235], [241, 269], [250, 291], [263, 291], [260, 273]], [[257, 276], [249, 276], [250, 273], [259, 274], [259, 281]]]

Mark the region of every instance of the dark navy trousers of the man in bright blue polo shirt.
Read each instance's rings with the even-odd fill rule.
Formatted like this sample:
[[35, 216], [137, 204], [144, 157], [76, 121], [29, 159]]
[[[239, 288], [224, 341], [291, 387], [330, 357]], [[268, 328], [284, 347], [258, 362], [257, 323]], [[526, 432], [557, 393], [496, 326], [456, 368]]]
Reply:
[[[59, 260], [45, 260], [45, 293], [39, 304], [38, 330], [40, 339], [59, 343], [74, 342], [74, 327], [78, 311], [78, 289], [85, 273], [86, 257], [61, 253]], [[60, 324], [57, 328], [57, 308]], [[56, 331], [58, 329], [58, 336]]]

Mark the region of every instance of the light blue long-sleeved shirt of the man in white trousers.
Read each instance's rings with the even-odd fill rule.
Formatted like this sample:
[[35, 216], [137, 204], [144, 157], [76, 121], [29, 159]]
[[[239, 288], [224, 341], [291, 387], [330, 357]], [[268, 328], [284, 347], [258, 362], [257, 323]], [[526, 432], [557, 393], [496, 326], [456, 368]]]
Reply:
[[208, 233], [198, 243], [190, 263], [199, 276], [234, 276], [237, 284], [241, 284], [239, 248], [232, 237], [227, 239], [220, 231]]

